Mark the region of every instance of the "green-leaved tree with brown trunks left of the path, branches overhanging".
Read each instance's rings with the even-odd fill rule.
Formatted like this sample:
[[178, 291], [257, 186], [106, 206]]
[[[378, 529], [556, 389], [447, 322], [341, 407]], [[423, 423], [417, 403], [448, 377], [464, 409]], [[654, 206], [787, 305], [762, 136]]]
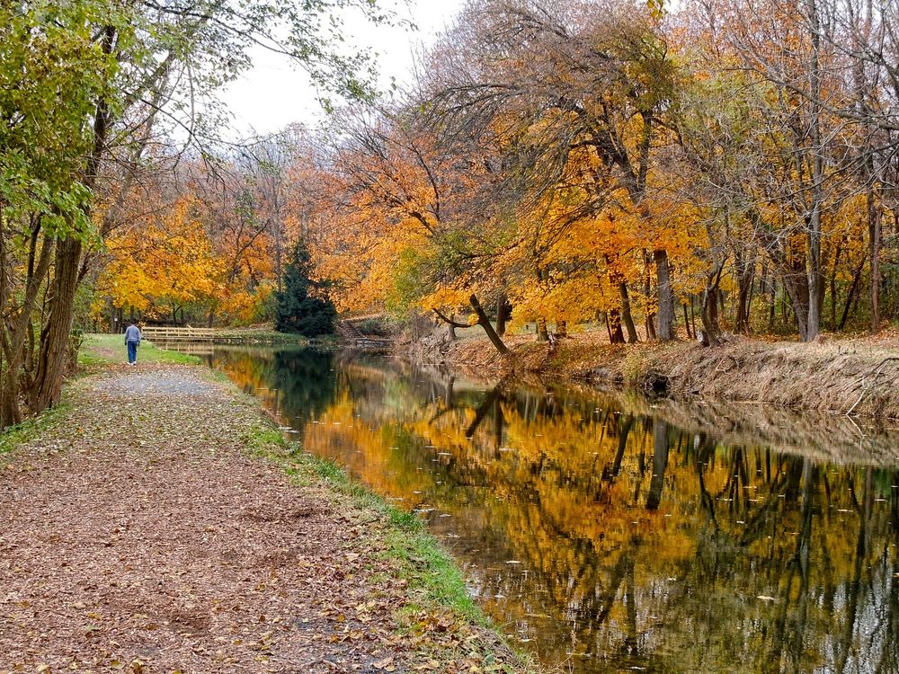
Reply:
[[305, 67], [325, 107], [371, 95], [368, 56], [342, 45], [351, 8], [393, 20], [373, 0], [0, 4], [0, 428], [58, 401], [76, 291], [133, 170], [174, 131], [217, 137], [214, 93], [252, 46]]

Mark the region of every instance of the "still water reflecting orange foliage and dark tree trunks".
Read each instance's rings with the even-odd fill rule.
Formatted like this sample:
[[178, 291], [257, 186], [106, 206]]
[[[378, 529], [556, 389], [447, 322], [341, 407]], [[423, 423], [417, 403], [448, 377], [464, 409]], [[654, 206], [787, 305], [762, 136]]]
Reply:
[[215, 350], [303, 447], [420, 513], [574, 672], [899, 671], [899, 436], [743, 405]]

